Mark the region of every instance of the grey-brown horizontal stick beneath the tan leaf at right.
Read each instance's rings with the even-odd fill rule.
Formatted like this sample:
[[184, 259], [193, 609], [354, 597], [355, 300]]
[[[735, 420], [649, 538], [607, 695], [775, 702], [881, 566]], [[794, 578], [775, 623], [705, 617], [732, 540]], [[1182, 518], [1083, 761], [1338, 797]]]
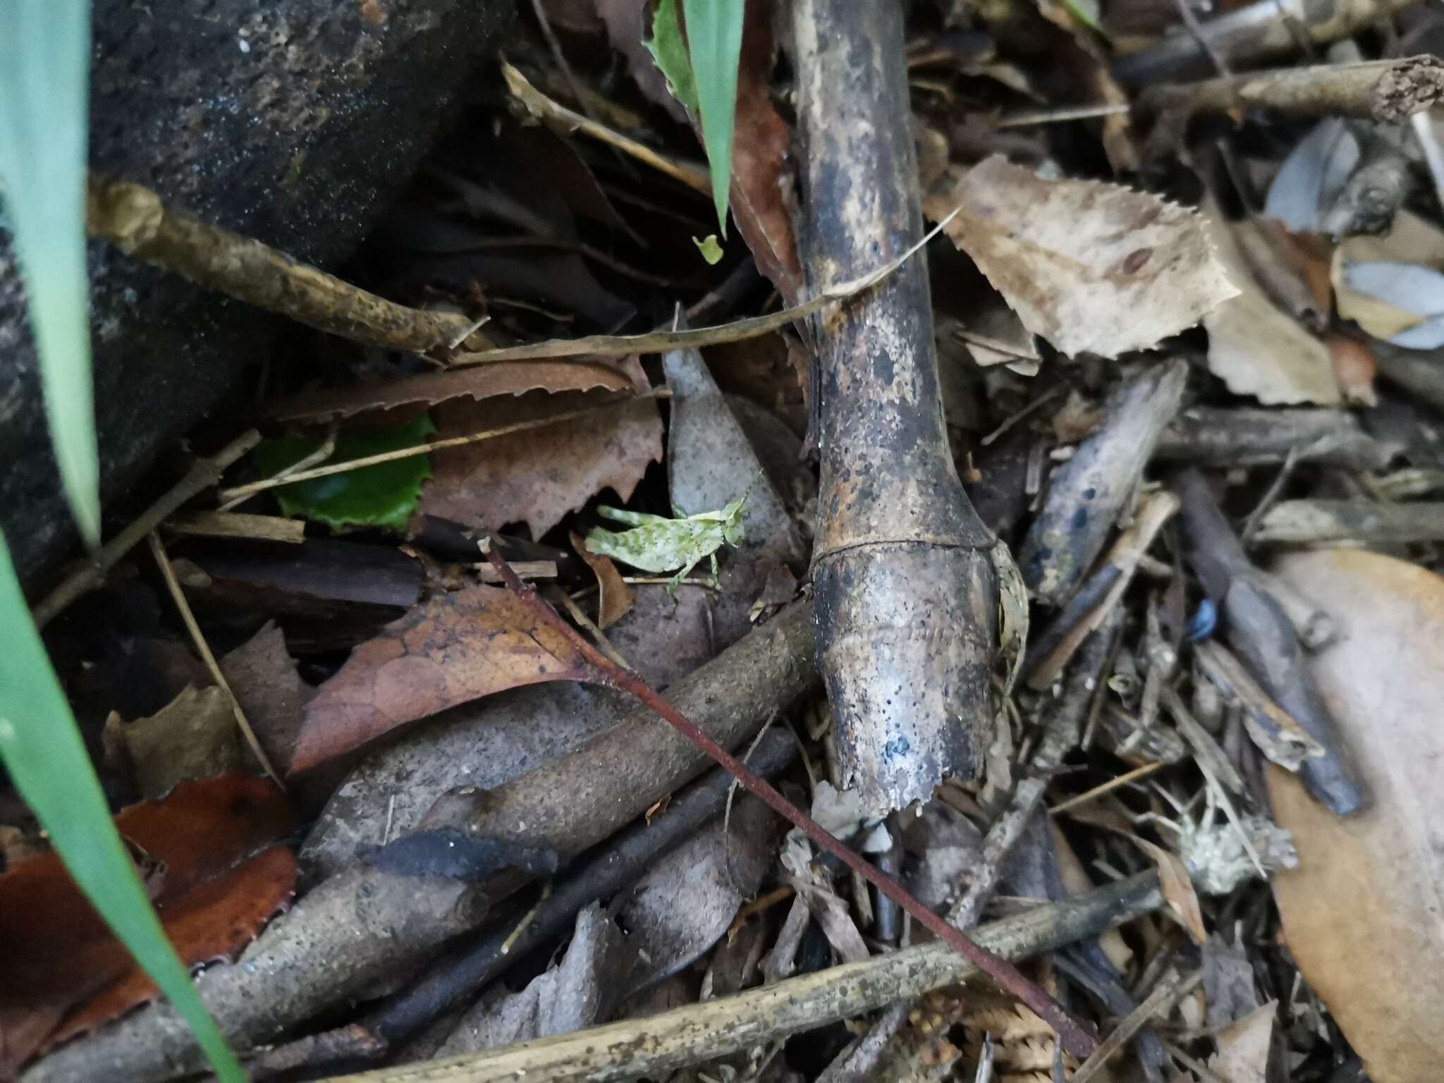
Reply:
[[1396, 451], [1366, 433], [1347, 410], [1193, 406], [1162, 430], [1154, 458], [1194, 466], [1258, 466], [1282, 464], [1292, 453], [1295, 462], [1375, 471]]

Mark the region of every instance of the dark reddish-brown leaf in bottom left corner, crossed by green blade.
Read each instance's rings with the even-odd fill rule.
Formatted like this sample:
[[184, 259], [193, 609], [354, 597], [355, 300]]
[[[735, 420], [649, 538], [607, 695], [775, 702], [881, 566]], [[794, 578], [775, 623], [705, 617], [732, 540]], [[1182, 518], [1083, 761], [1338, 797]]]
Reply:
[[[296, 861], [276, 843], [292, 827], [284, 796], [251, 775], [186, 783], [116, 816], [144, 855], [166, 934], [191, 966], [231, 957], [290, 901]], [[0, 1077], [156, 995], [53, 853], [0, 875]]]

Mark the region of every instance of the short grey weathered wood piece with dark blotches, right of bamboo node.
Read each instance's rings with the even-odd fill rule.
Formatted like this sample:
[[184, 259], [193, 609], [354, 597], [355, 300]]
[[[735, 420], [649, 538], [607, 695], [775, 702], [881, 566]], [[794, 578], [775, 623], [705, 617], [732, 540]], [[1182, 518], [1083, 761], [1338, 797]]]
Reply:
[[1083, 582], [1178, 412], [1187, 378], [1183, 361], [1168, 361], [1129, 380], [1109, 396], [1103, 425], [1053, 472], [1018, 554], [1038, 601], [1061, 605]]

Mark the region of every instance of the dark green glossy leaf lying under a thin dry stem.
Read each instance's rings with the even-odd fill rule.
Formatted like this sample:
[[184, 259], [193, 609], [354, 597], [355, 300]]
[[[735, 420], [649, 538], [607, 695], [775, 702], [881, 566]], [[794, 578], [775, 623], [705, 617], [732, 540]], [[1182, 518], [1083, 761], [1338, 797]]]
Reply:
[[[336, 440], [336, 449], [326, 465], [414, 448], [426, 443], [426, 438], [435, 432], [432, 419], [420, 414], [412, 422], [387, 429], [344, 433]], [[261, 474], [270, 477], [306, 458], [319, 446], [318, 440], [283, 436], [263, 440], [253, 452], [253, 458]], [[430, 477], [432, 456], [410, 455], [345, 474], [280, 485], [276, 490], [276, 500], [284, 514], [303, 516], [325, 523], [332, 530], [383, 527], [400, 533], [406, 530], [422, 497], [422, 485]]]

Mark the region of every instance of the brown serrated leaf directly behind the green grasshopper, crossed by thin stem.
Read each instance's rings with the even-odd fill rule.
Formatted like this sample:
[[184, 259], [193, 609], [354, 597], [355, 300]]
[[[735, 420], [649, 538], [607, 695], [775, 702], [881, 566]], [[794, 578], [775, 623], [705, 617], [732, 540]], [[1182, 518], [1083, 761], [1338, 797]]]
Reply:
[[[637, 358], [634, 380], [644, 383]], [[586, 406], [596, 393], [527, 394], [520, 399], [445, 403], [436, 409], [438, 436], [554, 416]], [[602, 401], [598, 399], [598, 401]], [[482, 530], [526, 523], [540, 539], [604, 488], [625, 501], [661, 458], [661, 416], [651, 399], [601, 406], [544, 429], [451, 448], [432, 456], [422, 511]]]

